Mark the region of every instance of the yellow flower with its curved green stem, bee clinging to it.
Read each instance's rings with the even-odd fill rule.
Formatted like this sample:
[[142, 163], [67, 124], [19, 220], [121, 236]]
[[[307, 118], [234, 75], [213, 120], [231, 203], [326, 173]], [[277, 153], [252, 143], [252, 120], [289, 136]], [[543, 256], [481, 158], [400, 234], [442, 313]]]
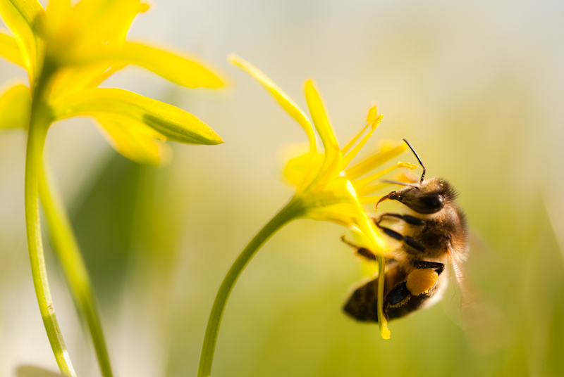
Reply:
[[[341, 148], [333, 134], [321, 96], [312, 80], [305, 82], [305, 98], [313, 126], [306, 113], [264, 73], [238, 56], [232, 55], [229, 60], [262, 84], [275, 101], [286, 110], [286, 113], [300, 124], [307, 135], [309, 151], [289, 160], [284, 168], [283, 173], [286, 179], [295, 186], [293, 197], [259, 231], [255, 238], [252, 238], [221, 283], [204, 337], [198, 370], [199, 377], [209, 376], [212, 371], [221, 316], [239, 275], [264, 242], [288, 222], [307, 218], [330, 221], [352, 229], [360, 236], [368, 252], [379, 262], [379, 279], [383, 281], [384, 253], [388, 251], [388, 245], [372, 218], [364, 210], [363, 205], [377, 203], [381, 197], [371, 196], [371, 194], [390, 185], [386, 182], [373, 184], [376, 179], [401, 167], [410, 169], [417, 167], [407, 162], [398, 162], [388, 169], [377, 170], [385, 162], [403, 153], [407, 149], [404, 143], [388, 144], [381, 151], [369, 155], [360, 162], [351, 163], [383, 118], [381, 114], [378, 114], [376, 106], [369, 109], [367, 124]], [[321, 139], [322, 148], [317, 144], [314, 127]], [[378, 292], [379, 302], [382, 302], [383, 288], [384, 283], [381, 283], [381, 289]], [[382, 306], [379, 305], [380, 314], [381, 310]], [[379, 321], [380, 333], [382, 338], [387, 339], [390, 337], [390, 331], [384, 315], [381, 314], [380, 318], [382, 319]]]

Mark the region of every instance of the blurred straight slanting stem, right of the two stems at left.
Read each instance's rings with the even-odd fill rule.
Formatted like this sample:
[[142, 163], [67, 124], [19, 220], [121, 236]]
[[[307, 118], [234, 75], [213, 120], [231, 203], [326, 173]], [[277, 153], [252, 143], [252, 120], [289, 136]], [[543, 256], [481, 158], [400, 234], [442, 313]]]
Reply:
[[102, 376], [112, 377], [108, 349], [99, 319], [92, 283], [73, 234], [71, 222], [68, 220], [45, 163], [39, 177], [39, 198], [49, 224], [49, 234], [51, 234], [54, 251], [63, 267], [78, 312], [82, 315], [82, 319], [85, 320], [90, 330]]

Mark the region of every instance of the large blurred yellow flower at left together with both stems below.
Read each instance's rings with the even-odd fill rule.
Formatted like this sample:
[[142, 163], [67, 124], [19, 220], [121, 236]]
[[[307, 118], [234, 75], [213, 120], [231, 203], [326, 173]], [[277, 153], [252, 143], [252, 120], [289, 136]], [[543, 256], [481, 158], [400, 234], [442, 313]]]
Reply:
[[116, 150], [131, 160], [157, 165], [170, 155], [164, 143], [222, 143], [213, 129], [175, 106], [115, 88], [98, 88], [126, 65], [140, 65], [185, 87], [217, 88], [221, 79], [195, 60], [125, 40], [140, 0], [0, 0], [0, 15], [13, 37], [0, 32], [0, 56], [27, 71], [28, 85], [0, 96], [0, 128], [27, 129], [25, 222], [35, 293], [61, 373], [75, 376], [56, 319], [45, 267], [39, 200], [75, 305], [90, 330], [104, 377], [112, 377], [109, 352], [92, 285], [42, 160], [47, 131], [56, 120], [92, 117]]

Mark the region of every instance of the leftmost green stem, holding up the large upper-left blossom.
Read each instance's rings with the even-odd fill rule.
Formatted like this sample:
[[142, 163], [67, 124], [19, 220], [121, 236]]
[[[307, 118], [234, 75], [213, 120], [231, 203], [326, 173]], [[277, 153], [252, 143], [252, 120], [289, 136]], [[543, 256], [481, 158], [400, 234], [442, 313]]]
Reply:
[[[47, 67], [46, 67], [47, 68]], [[25, 155], [25, 227], [27, 230], [27, 248], [30, 252], [31, 272], [35, 294], [39, 303], [39, 311], [43, 319], [45, 331], [51, 343], [59, 369], [64, 376], [75, 377], [73, 364], [68, 356], [63, 334], [55, 316], [51, 291], [47, 281], [47, 269], [41, 238], [41, 224], [39, 222], [38, 179], [42, 171], [42, 155], [47, 136], [47, 129], [51, 124], [51, 114], [44, 102], [44, 91], [51, 76], [50, 70], [38, 78], [33, 91], [33, 102], [30, 114], [30, 127], [27, 134], [27, 150]]]

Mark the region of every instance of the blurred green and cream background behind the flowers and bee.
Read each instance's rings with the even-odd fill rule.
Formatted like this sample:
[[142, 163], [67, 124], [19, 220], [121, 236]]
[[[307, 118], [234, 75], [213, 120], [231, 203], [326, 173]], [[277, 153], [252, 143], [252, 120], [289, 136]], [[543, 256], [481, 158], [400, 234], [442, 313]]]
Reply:
[[[341, 312], [362, 268], [336, 225], [302, 220], [267, 243], [223, 317], [215, 376], [563, 376], [564, 3], [562, 1], [165, 1], [130, 38], [187, 51], [231, 88], [188, 90], [135, 68], [106, 82], [210, 124], [221, 146], [175, 145], [136, 165], [88, 120], [56, 124], [48, 154], [94, 281], [116, 376], [195, 376], [214, 295], [231, 262], [292, 195], [279, 149], [305, 141], [238, 53], [305, 108], [314, 78], [341, 143], [376, 101], [371, 141], [407, 138], [429, 176], [460, 191], [474, 286], [510, 345], [483, 354], [441, 305], [390, 324]], [[0, 82], [23, 70], [0, 62]], [[0, 136], [0, 375], [56, 370], [32, 288], [23, 217], [23, 132]], [[414, 162], [412, 155], [403, 160]], [[47, 250], [79, 376], [99, 376], [90, 340]], [[484, 316], [484, 318], [486, 318]]]

